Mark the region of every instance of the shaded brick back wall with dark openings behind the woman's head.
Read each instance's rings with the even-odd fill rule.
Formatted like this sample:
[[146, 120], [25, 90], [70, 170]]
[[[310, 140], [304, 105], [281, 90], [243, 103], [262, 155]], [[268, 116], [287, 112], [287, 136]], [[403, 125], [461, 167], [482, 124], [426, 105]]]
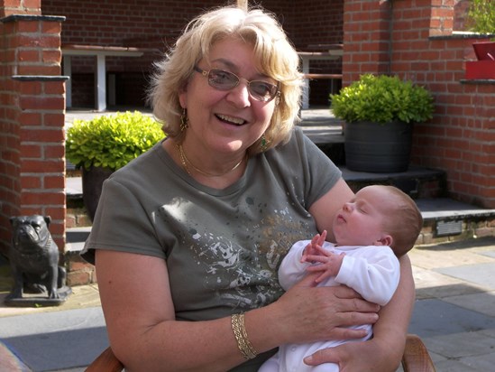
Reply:
[[[235, 4], [235, 1], [230, 1]], [[250, 2], [252, 3], [252, 2]], [[301, 51], [308, 50], [308, 44], [338, 43], [343, 40], [344, 0], [319, 0], [305, 2], [268, 0], [260, 2], [262, 6], [278, 15], [280, 22], [289, 33], [292, 42]], [[137, 80], [142, 83], [122, 91], [117, 103], [121, 105], [144, 105], [146, 81], [152, 62], [159, 60], [162, 53], [172, 45], [186, 23], [206, 8], [225, 5], [225, 1], [160, 1], [154, 0], [142, 6], [142, 2], [107, 0], [68, 2], [65, 0], [43, 0], [43, 14], [57, 14], [67, 17], [63, 24], [62, 43], [87, 45], [114, 45], [154, 48], [156, 52], [145, 53], [140, 58], [107, 58], [109, 73], [118, 74], [124, 87], [132, 86]], [[73, 107], [93, 107], [94, 100], [88, 98], [92, 79], [77, 80], [80, 74], [94, 74], [94, 59], [72, 57]], [[311, 72], [340, 73], [342, 60], [326, 63], [314, 63]], [[126, 73], [127, 76], [126, 76]], [[137, 79], [136, 74], [141, 75]], [[128, 81], [125, 81], [128, 80]], [[323, 81], [312, 83], [313, 101], [327, 104], [328, 87]], [[90, 94], [90, 93], [89, 93]], [[318, 97], [319, 96], [319, 97]]]

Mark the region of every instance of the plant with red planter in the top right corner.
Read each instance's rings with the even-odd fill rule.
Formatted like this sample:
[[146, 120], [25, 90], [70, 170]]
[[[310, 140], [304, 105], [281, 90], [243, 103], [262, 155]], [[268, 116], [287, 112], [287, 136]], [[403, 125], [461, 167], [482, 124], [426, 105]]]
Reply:
[[478, 60], [466, 62], [466, 79], [495, 79], [495, 1], [471, 0], [467, 28], [486, 35], [484, 42], [473, 42]]

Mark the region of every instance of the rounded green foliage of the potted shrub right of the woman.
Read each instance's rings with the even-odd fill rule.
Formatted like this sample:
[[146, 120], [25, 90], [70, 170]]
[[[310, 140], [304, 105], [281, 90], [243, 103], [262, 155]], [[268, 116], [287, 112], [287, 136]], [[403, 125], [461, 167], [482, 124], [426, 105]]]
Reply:
[[365, 74], [330, 98], [334, 115], [347, 123], [420, 123], [433, 117], [433, 97], [426, 88], [397, 76]]

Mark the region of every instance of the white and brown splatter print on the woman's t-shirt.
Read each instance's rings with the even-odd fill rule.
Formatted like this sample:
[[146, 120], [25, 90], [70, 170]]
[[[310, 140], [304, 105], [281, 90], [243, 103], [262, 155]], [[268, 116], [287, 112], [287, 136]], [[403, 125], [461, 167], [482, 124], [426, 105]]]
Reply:
[[189, 255], [194, 270], [204, 273], [205, 289], [239, 310], [280, 297], [280, 263], [293, 242], [307, 237], [309, 230], [307, 219], [294, 219], [287, 206], [261, 208], [255, 200], [246, 198], [234, 209], [215, 215], [184, 200], [160, 210], [161, 218], [177, 229], [178, 254]]

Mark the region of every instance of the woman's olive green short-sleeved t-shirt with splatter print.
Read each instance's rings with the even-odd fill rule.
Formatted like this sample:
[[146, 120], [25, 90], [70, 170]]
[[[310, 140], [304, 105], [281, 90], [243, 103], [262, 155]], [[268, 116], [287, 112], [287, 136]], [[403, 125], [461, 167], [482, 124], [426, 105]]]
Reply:
[[316, 234], [307, 209], [340, 177], [298, 127], [223, 190], [195, 181], [157, 144], [105, 181], [82, 255], [93, 262], [94, 249], [110, 249], [165, 259], [180, 321], [247, 312], [283, 293], [280, 262]]

